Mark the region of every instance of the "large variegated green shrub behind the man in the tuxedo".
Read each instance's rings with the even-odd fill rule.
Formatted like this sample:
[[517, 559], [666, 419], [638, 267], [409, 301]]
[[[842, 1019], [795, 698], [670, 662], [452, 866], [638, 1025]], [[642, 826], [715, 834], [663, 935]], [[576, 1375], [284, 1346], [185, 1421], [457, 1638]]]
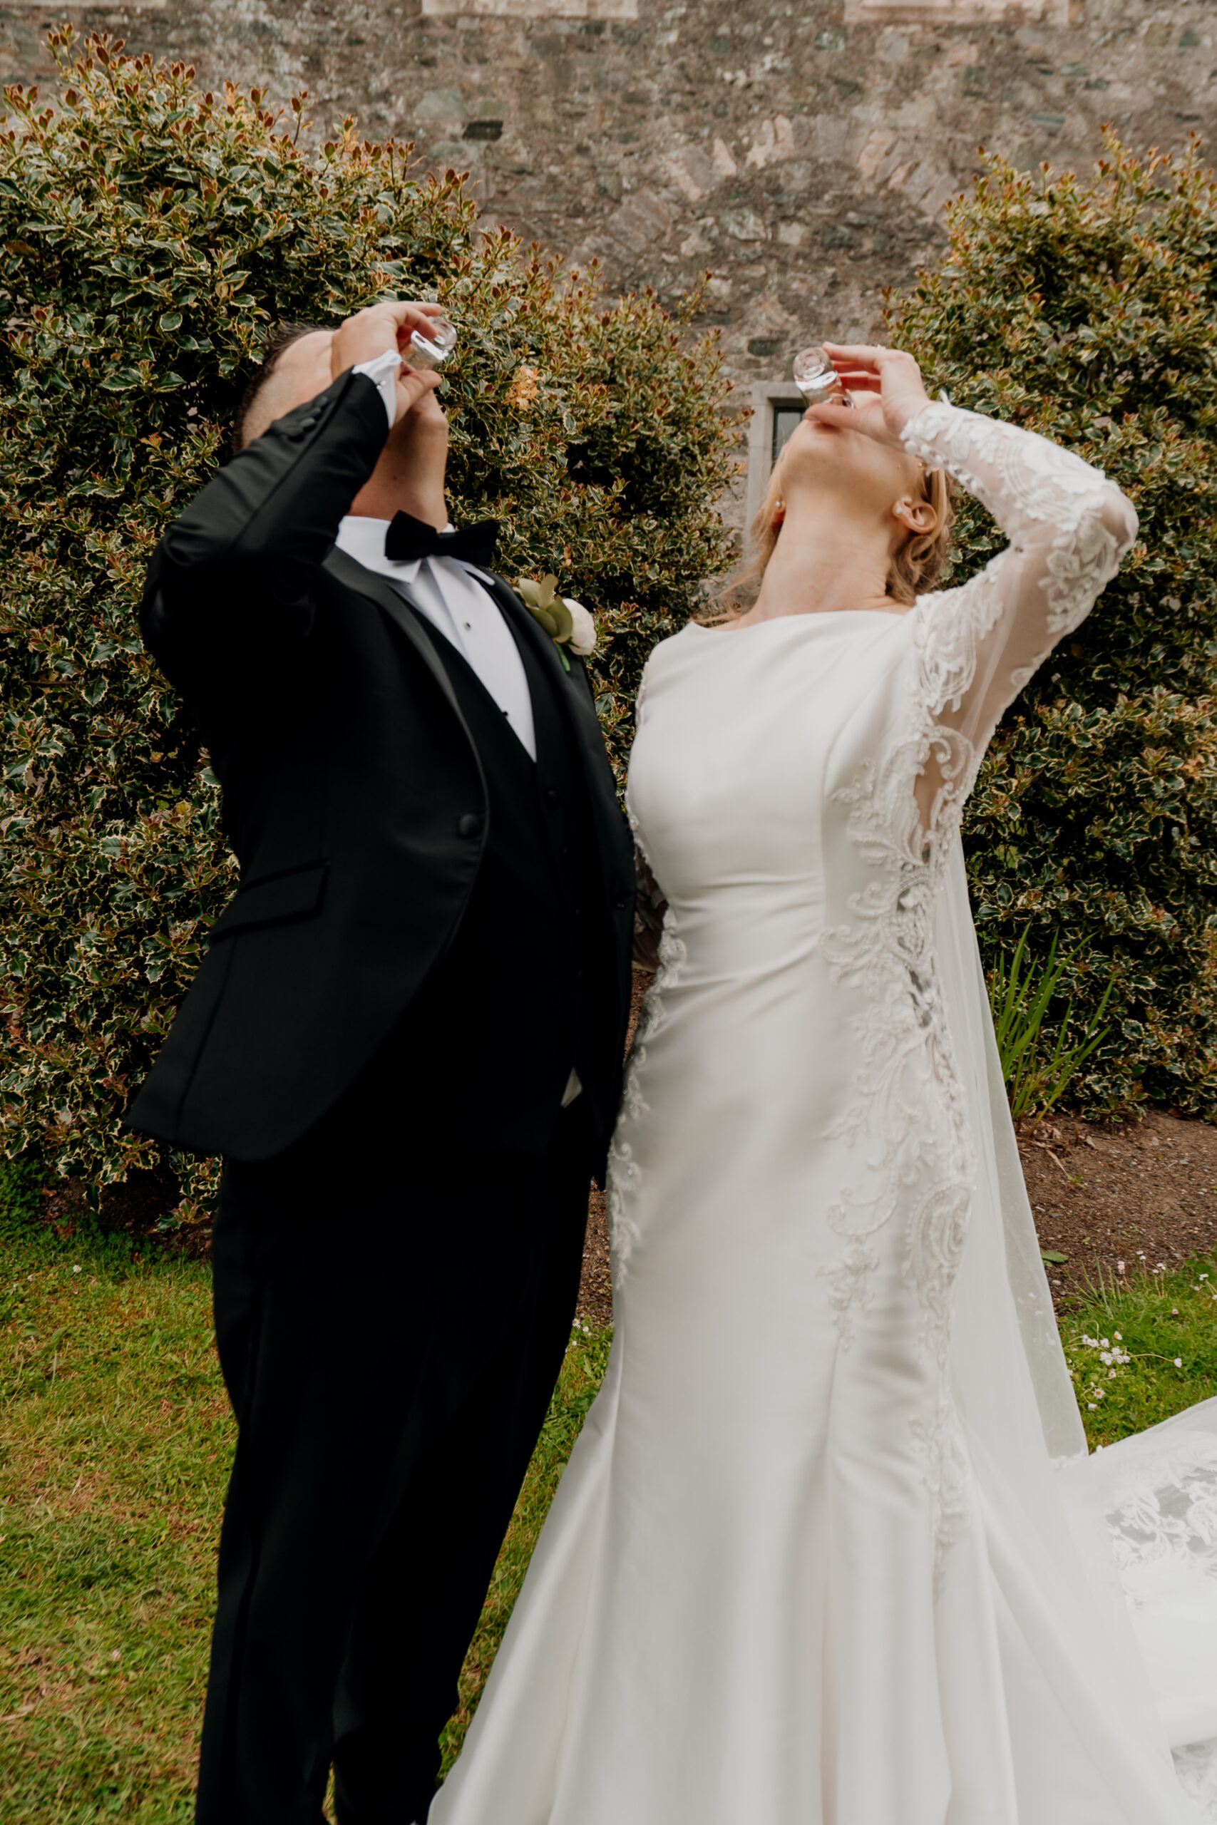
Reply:
[[0, 1097], [7, 1153], [109, 1183], [157, 1161], [119, 1115], [234, 885], [197, 734], [140, 648], [142, 569], [224, 456], [266, 327], [447, 303], [454, 516], [496, 515], [500, 568], [556, 571], [597, 615], [619, 761], [646, 653], [730, 560], [733, 440], [713, 345], [682, 347], [650, 292], [606, 310], [595, 272], [480, 237], [456, 173], [416, 182], [350, 122], [307, 153], [299, 99], [283, 131], [261, 91], [51, 46], [58, 108], [9, 89], [0, 137]]

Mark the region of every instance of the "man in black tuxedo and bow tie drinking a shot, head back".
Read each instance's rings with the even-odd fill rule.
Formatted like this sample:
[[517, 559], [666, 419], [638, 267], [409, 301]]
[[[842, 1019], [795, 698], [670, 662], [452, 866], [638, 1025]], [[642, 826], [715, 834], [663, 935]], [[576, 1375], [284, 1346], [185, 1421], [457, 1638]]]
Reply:
[[226, 1159], [201, 1825], [321, 1825], [330, 1765], [425, 1818], [619, 1095], [631, 843], [582, 662], [440, 531], [429, 314], [281, 338], [148, 569], [241, 861], [130, 1113]]

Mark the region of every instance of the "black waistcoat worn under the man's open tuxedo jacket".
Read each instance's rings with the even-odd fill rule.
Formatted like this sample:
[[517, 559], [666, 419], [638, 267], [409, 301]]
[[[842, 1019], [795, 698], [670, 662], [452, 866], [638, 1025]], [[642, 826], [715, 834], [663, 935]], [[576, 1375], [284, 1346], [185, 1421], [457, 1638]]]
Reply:
[[615, 953], [566, 710], [527, 641], [516, 641], [533, 761], [463, 655], [440, 633], [432, 642], [482, 759], [489, 829], [452, 942], [336, 1117], [358, 1115], [359, 1128], [385, 1137], [405, 1122], [467, 1146], [536, 1153], [573, 1068], [591, 1126], [606, 1137]]

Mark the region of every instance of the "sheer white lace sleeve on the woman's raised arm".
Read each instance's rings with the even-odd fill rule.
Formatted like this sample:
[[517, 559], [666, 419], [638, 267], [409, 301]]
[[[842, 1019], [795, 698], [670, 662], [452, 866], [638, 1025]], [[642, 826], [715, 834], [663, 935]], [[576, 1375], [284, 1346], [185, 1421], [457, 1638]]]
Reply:
[[1115, 577], [1137, 515], [1102, 471], [996, 418], [927, 405], [903, 443], [947, 469], [1009, 535], [978, 577], [914, 610], [920, 708], [932, 725], [918, 781], [929, 827], [945, 788], [967, 796], [1002, 712]]

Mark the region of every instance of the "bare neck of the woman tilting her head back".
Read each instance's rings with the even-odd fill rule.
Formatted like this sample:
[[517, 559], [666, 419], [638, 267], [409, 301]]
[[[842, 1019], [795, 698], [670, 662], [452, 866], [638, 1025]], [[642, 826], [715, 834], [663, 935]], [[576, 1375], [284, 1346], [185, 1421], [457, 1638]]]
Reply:
[[889, 562], [883, 531], [850, 522], [841, 502], [821, 496], [797, 511], [788, 507], [761, 591], [735, 626], [847, 608], [898, 615], [901, 606], [887, 593]]

